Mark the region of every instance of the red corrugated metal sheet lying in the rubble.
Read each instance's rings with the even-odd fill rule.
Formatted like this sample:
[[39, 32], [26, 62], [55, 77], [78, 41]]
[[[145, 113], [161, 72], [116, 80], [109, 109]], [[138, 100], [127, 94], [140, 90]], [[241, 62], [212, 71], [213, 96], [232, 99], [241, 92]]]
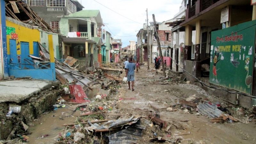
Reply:
[[71, 102], [77, 102], [77, 103], [90, 102], [81, 85], [77, 85], [77, 84], [69, 85], [69, 90], [70, 90], [70, 94], [73, 96], [73, 98], [70, 99]]

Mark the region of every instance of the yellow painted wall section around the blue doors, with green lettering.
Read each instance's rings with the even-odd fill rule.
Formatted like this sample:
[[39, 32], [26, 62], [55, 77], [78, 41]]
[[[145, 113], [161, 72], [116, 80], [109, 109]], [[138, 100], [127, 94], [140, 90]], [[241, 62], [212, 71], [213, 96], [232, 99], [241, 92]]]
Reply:
[[[38, 29], [31, 29], [24, 26], [15, 24], [9, 20], [6, 20], [6, 27], [15, 28], [15, 33], [18, 36], [16, 44], [18, 42], [28, 42], [29, 43], [29, 54], [34, 54], [33, 42], [40, 42], [40, 32]], [[6, 35], [7, 40], [7, 54], [10, 54], [10, 44], [9, 40], [12, 39], [11, 35]], [[17, 45], [17, 48], [20, 48], [20, 45]], [[17, 51], [17, 55], [20, 55], [21, 51]]]

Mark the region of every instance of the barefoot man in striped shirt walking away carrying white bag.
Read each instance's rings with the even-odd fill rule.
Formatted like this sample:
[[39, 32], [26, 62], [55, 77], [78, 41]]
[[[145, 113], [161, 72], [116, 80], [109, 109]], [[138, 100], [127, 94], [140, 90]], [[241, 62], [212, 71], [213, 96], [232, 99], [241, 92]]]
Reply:
[[129, 89], [131, 90], [130, 87], [130, 82], [132, 82], [132, 91], [134, 91], [133, 89], [133, 84], [134, 84], [134, 70], [136, 68], [135, 63], [132, 62], [132, 58], [129, 58], [129, 63], [125, 66], [126, 68], [126, 75], [125, 77], [127, 77], [127, 81], [128, 81], [128, 85], [129, 85]]

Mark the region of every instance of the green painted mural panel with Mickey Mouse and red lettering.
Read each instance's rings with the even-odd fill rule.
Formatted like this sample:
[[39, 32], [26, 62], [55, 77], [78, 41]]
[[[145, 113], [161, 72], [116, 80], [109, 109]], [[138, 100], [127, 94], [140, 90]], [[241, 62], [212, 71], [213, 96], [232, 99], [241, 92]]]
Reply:
[[210, 83], [252, 94], [256, 20], [213, 31]]

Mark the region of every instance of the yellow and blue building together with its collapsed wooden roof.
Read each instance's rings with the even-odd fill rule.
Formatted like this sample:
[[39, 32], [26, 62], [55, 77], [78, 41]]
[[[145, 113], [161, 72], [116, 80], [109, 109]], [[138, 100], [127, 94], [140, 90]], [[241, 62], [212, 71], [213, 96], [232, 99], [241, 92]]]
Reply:
[[[36, 16], [21, 1], [15, 1], [19, 13], [14, 14], [11, 4], [6, 3], [6, 47], [9, 76], [31, 77], [55, 81], [56, 51], [59, 51], [58, 34]], [[13, 13], [13, 14], [11, 14]], [[18, 15], [23, 14], [22, 17]], [[24, 21], [25, 19], [33, 19]], [[26, 23], [25, 23], [26, 22]], [[48, 50], [40, 46], [44, 44]], [[39, 58], [39, 57], [42, 58]], [[44, 59], [44, 60], [43, 60]]]

